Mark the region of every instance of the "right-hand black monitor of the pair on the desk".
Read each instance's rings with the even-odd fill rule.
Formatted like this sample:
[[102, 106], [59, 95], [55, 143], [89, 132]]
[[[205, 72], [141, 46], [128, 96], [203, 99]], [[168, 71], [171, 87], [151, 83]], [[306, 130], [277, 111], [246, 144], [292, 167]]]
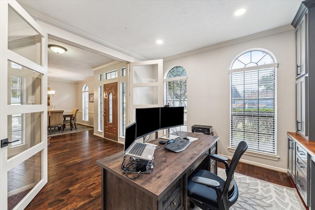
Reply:
[[161, 107], [160, 129], [184, 125], [184, 107]]

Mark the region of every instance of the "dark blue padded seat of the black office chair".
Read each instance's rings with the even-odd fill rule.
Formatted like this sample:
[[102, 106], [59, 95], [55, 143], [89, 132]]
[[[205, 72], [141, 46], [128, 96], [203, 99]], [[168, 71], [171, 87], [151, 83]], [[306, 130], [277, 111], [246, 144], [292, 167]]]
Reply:
[[206, 170], [195, 171], [188, 178], [188, 196], [219, 209], [216, 191], [211, 187], [193, 182], [191, 180], [193, 177], [217, 180], [220, 183], [221, 191], [223, 191], [225, 180]]

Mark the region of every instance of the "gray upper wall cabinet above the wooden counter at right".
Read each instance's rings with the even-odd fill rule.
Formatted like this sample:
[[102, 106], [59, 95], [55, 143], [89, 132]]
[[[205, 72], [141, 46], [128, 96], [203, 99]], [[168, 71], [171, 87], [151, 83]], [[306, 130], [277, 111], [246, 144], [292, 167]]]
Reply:
[[295, 28], [295, 130], [315, 141], [315, 0], [303, 1], [291, 23]]

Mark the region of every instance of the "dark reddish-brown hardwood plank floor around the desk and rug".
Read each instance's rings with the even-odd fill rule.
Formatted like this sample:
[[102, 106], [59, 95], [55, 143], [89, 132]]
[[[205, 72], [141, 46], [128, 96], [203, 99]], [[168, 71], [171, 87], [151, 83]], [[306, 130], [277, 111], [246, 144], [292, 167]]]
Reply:
[[[48, 146], [48, 183], [26, 210], [100, 210], [101, 169], [96, 160], [124, 146], [93, 130], [54, 136]], [[294, 187], [285, 173], [240, 163], [236, 172]]]

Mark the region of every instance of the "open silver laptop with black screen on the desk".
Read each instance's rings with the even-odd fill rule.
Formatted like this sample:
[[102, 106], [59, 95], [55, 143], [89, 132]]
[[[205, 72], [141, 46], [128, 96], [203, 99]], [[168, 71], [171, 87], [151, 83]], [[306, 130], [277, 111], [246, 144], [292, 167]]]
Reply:
[[[125, 133], [125, 154], [143, 159], [143, 160], [153, 160], [154, 152], [156, 150], [156, 146], [152, 144], [135, 142], [136, 139], [136, 122], [132, 122], [131, 124], [126, 126]], [[139, 153], [139, 149], [141, 148], [142, 152]]]

